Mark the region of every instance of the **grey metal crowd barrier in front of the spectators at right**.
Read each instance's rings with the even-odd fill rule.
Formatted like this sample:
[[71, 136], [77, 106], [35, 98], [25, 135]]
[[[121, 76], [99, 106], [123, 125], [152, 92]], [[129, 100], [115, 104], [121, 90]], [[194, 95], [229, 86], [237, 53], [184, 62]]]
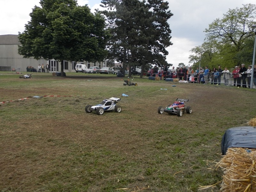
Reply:
[[[188, 82], [190, 83], [202, 83], [202, 84], [215, 84], [237, 87], [250, 87], [251, 76], [250, 74], [239, 73], [207, 73], [204, 74], [189, 74]], [[253, 88], [256, 88], [256, 77], [253, 78]]]

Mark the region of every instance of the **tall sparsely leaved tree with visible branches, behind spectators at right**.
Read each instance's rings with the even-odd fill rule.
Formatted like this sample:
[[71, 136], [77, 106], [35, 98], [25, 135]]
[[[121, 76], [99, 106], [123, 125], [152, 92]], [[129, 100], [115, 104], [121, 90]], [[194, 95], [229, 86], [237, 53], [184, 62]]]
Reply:
[[254, 36], [252, 26], [256, 24], [256, 5], [246, 4], [242, 8], [229, 9], [222, 19], [214, 20], [205, 29], [206, 41], [217, 42], [218, 58], [227, 65], [239, 65], [243, 60], [237, 53], [246, 47], [246, 39]]

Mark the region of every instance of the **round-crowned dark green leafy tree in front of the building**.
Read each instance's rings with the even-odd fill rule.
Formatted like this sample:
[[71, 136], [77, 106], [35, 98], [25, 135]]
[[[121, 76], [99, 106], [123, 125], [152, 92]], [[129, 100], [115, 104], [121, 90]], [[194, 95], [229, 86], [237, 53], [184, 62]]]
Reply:
[[25, 31], [19, 32], [18, 52], [25, 58], [64, 60], [103, 60], [109, 33], [100, 13], [78, 6], [76, 0], [40, 0], [30, 13]]

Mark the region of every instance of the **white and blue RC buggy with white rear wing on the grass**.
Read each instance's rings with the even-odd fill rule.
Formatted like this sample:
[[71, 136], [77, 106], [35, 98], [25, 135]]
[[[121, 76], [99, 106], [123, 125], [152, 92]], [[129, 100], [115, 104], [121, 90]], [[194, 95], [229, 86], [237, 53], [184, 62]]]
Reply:
[[92, 111], [96, 111], [98, 115], [102, 115], [104, 111], [113, 111], [120, 113], [122, 111], [121, 106], [116, 105], [118, 101], [120, 101], [120, 98], [111, 97], [109, 99], [104, 99], [100, 104], [92, 106], [92, 105], [86, 105], [85, 106], [85, 112], [91, 113]]

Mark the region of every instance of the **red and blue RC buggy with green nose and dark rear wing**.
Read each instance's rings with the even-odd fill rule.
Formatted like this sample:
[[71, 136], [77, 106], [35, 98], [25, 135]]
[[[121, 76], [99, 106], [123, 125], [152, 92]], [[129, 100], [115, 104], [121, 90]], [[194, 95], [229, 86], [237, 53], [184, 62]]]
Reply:
[[158, 113], [163, 114], [166, 113], [174, 113], [177, 114], [178, 117], [182, 116], [183, 112], [192, 113], [192, 108], [190, 106], [186, 106], [184, 101], [188, 101], [188, 99], [176, 99], [173, 104], [169, 104], [165, 109], [160, 106], [158, 107]]

